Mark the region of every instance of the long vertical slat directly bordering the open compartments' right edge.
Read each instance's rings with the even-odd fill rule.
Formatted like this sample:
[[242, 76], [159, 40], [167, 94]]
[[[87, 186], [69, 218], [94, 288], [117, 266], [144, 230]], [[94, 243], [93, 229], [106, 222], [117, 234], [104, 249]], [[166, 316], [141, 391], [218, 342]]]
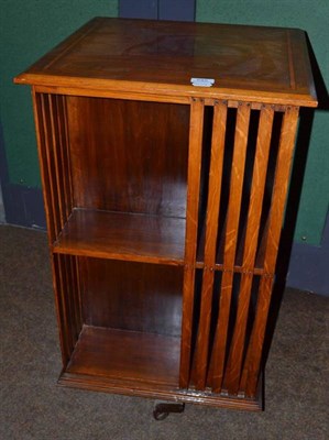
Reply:
[[204, 101], [193, 99], [190, 105], [189, 148], [187, 173], [187, 208], [185, 238], [185, 267], [183, 283], [183, 319], [179, 386], [187, 388], [190, 374], [191, 321], [195, 290], [195, 261], [198, 233], [198, 207], [204, 129]]

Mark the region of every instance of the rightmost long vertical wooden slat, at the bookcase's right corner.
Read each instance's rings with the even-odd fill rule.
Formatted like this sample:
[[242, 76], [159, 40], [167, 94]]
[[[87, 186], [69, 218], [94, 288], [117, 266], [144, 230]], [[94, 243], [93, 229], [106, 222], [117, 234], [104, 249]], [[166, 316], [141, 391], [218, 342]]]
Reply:
[[246, 396], [254, 396], [256, 392], [297, 123], [298, 108], [288, 107], [285, 111], [281, 130], [278, 156], [268, 217], [268, 229], [265, 239], [264, 275], [261, 278], [256, 315], [240, 385], [240, 388]]

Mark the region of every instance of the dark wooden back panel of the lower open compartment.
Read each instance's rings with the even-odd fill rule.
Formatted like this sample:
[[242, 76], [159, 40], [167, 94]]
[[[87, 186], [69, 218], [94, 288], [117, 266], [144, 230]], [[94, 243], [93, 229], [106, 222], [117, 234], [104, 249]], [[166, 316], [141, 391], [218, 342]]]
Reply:
[[87, 274], [86, 324], [180, 338], [183, 267], [94, 257], [79, 263]]

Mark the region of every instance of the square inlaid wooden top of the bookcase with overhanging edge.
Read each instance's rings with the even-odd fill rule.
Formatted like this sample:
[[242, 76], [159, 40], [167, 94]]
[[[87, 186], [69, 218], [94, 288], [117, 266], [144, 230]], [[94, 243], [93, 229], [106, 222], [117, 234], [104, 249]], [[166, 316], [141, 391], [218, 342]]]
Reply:
[[[194, 86], [191, 78], [213, 84]], [[96, 18], [14, 80], [317, 106], [297, 29]]]

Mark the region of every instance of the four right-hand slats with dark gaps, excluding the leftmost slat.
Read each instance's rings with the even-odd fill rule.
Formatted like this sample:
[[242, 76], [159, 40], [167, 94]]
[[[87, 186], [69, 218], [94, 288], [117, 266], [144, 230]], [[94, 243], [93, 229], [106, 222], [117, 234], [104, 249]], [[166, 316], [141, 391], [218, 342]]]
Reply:
[[296, 108], [215, 103], [189, 382], [197, 391], [255, 397], [297, 118]]

